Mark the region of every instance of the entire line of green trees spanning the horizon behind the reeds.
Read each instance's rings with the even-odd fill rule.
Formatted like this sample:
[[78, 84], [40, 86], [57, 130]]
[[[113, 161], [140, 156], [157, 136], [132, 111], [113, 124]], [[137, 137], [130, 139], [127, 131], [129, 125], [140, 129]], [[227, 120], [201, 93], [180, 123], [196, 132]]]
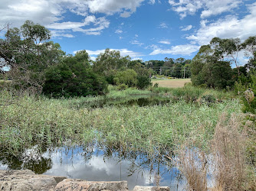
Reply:
[[[245, 42], [215, 37], [203, 45], [192, 60], [166, 57], [165, 60], [131, 60], [118, 50], [106, 49], [96, 60], [90, 60], [86, 50], [66, 54], [60, 44], [51, 41], [51, 31], [40, 24], [25, 21], [21, 28], [8, 28], [0, 39], [0, 71], [16, 89], [31, 89], [47, 95], [86, 96], [107, 92], [107, 84], [120, 89], [151, 85], [149, 77], [164, 75], [191, 78], [195, 86], [230, 89], [239, 80], [251, 82], [256, 66], [256, 36]], [[248, 63], [239, 66], [238, 53], [245, 51]], [[235, 68], [231, 68], [235, 64]], [[86, 89], [86, 90], [85, 90]]]

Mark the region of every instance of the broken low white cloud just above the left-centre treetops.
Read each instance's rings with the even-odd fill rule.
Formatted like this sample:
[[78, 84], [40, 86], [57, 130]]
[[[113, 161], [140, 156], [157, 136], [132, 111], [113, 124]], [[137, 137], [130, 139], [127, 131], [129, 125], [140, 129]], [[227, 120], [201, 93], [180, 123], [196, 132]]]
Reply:
[[[123, 57], [130, 56], [131, 58], [134, 58], [134, 57], [143, 57], [144, 56], [142, 53], [136, 53], [136, 52], [133, 52], [133, 50], [127, 50], [126, 48], [110, 49], [110, 51], [113, 51], [113, 50], [120, 51], [120, 55]], [[77, 53], [77, 51], [79, 51], [79, 50], [76, 50], [73, 53]], [[103, 49], [103, 50], [86, 50], [86, 51], [87, 51], [87, 53], [89, 53], [90, 56], [91, 55], [97, 56], [100, 53], [104, 53], [105, 49]]]

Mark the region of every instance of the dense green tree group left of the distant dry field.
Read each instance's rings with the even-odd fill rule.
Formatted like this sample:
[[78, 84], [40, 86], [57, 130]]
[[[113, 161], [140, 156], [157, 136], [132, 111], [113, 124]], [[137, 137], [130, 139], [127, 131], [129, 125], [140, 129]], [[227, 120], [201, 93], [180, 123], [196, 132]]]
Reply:
[[21, 28], [8, 28], [0, 39], [1, 76], [15, 89], [25, 89], [54, 97], [102, 95], [107, 84], [144, 89], [151, 84], [149, 70], [140, 60], [120, 56], [106, 49], [96, 61], [86, 50], [66, 55], [54, 44], [51, 32], [26, 21]]

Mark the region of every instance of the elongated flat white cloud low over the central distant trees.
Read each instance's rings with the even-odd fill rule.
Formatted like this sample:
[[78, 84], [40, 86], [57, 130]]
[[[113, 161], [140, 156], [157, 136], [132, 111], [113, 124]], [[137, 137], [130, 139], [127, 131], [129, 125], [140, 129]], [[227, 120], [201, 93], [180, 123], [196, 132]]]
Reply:
[[191, 53], [194, 53], [195, 51], [199, 50], [199, 46], [193, 45], [193, 44], [184, 44], [184, 45], [177, 45], [172, 46], [170, 49], [156, 49], [153, 50], [152, 53], [149, 53], [149, 55], [156, 55], [156, 54], [181, 54], [181, 55], [190, 55]]

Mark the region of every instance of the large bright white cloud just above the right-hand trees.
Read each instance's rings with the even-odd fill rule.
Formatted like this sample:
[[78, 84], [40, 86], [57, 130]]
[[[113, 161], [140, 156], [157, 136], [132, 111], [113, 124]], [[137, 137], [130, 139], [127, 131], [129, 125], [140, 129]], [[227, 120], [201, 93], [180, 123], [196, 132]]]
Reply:
[[256, 3], [249, 7], [249, 14], [238, 19], [236, 16], [228, 16], [215, 22], [201, 21], [201, 28], [195, 34], [186, 37], [199, 45], [208, 44], [213, 37], [236, 38], [245, 40], [255, 35], [256, 31]]

